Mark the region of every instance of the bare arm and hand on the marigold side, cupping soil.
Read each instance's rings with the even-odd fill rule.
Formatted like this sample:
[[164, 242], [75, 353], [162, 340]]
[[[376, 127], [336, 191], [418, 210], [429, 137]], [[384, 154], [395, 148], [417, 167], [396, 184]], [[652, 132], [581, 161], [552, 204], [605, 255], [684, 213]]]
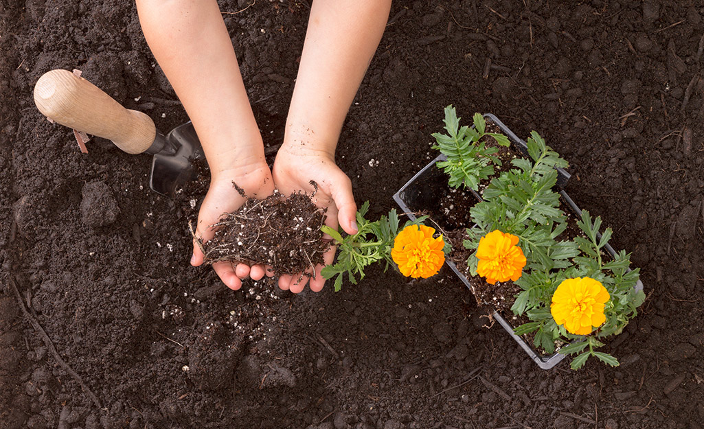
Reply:
[[[351, 181], [334, 162], [342, 123], [384, 33], [391, 0], [315, 0], [310, 10], [301, 66], [286, 124], [284, 144], [274, 165], [280, 191], [313, 191], [327, 207], [327, 225], [356, 233]], [[332, 263], [334, 249], [325, 255]], [[325, 280], [316, 268], [310, 288]], [[312, 273], [308, 273], [310, 276]], [[307, 276], [281, 276], [279, 287], [298, 293]]]

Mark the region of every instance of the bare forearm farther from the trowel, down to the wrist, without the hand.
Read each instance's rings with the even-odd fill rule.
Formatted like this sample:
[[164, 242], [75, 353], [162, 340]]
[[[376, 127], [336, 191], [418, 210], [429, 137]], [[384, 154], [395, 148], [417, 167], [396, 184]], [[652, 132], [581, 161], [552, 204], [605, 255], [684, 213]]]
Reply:
[[391, 0], [313, 1], [287, 118], [287, 144], [306, 143], [334, 156], [390, 8]]

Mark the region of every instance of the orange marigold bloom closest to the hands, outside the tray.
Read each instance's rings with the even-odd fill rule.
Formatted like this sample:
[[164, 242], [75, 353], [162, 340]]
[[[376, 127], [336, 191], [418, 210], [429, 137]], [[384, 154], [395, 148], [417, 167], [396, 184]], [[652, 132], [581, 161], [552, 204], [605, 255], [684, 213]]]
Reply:
[[394, 239], [391, 258], [406, 277], [428, 278], [440, 271], [445, 262], [442, 236], [433, 238], [435, 229], [425, 225], [409, 225]]

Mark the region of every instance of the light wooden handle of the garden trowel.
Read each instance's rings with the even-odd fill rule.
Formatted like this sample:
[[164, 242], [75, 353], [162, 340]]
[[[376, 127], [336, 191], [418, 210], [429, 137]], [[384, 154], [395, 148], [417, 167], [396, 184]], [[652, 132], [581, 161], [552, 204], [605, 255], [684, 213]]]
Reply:
[[34, 103], [46, 117], [77, 131], [109, 139], [127, 153], [142, 153], [156, 137], [151, 118], [127, 110], [94, 84], [68, 70], [44, 73]]

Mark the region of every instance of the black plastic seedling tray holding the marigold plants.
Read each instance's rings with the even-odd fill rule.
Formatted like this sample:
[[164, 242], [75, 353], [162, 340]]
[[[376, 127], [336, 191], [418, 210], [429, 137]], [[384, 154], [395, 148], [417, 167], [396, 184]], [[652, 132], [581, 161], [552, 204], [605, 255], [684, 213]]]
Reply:
[[[484, 115], [484, 117], [487, 120], [495, 122], [498, 127], [501, 128], [501, 132], [508, 136], [513, 148], [517, 148], [521, 153], [527, 155], [528, 148], [526, 143], [513, 134], [513, 132], [511, 132], [508, 127], [498, 120], [496, 116]], [[396, 204], [401, 207], [401, 210], [404, 213], [408, 214], [410, 219], [415, 220], [415, 215], [413, 214], [415, 212], [423, 212], [429, 210], [431, 207], [439, 207], [440, 200], [443, 195], [438, 192], [438, 189], [443, 186], [447, 186], [446, 174], [436, 166], [436, 163], [442, 160], [446, 160], [444, 155], [440, 155], [432, 160], [394, 194], [394, 201], [396, 201]], [[567, 192], [562, 189], [567, 185], [567, 181], [569, 180], [570, 174], [563, 169], [558, 169], [557, 187], [560, 188], [560, 196], [565, 203], [567, 203], [572, 212], [574, 212], [577, 217], [580, 217], [582, 211], [579, 210], [579, 207], [576, 203], [574, 203], [572, 198], [567, 195]], [[479, 194], [474, 191], [472, 191], [470, 195], [467, 195], [467, 198], [477, 198], [477, 202], [481, 200]], [[601, 234], [599, 234], [599, 236], [599, 238], [601, 238]], [[605, 249], [615, 257], [616, 251], [611, 247], [611, 245], [607, 244]], [[457, 274], [460, 280], [465, 283], [465, 286], [472, 290], [469, 279], [457, 268], [457, 265], [455, 265], [455, 263], [451, 260], [445, 260], [445, 263], [452, 269], [452, 271], [455, 272], [455, 274]], [[643, 283], [640, 280], [636, 283], [636, 290], [643, 290]], [[520, 347], [541, 369], [552, 369], [567, 356], [566, 354], [560, 354], [558, 352], [553, 354], [539, 354], [523, 338], [513, 332], [514, 327], [511, 326], [508, 321], [501, 316], [501, 314], [494, 312], [493, 316], [494, 319], [498, 321], [498, 324], [503, 326], [503, 328], [513, 337], [513, 339], [516, 340], [518, 345], [520, 345]]]

